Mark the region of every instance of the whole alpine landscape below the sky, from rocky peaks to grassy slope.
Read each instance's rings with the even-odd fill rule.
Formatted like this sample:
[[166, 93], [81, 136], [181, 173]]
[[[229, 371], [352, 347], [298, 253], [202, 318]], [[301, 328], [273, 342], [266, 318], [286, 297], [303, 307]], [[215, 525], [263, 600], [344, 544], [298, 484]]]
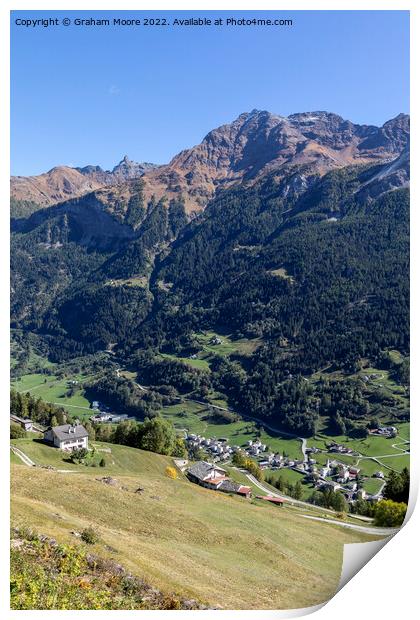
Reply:
[[[337, 549], [383, 536], [403, 517], [375, 506], [407, 501], [409, 132], [405, 114], [376, 127], [253, 110], [165, 165], [12, 177], [14, 415], [38, 431], [77, 418], [104, 471], [127, 477], [92, 482], [95, 455], [61, 463], [15, 429], [16, 527], [68, 543], [93, 524], [100, 555], [157, 584], [143, 608], [335, 591]], [[55, 471], [23, 474], [22, 454]], [[200, 488], [179, 462], [171, 479], [171, 456], [221, 466], [253, 499]]]

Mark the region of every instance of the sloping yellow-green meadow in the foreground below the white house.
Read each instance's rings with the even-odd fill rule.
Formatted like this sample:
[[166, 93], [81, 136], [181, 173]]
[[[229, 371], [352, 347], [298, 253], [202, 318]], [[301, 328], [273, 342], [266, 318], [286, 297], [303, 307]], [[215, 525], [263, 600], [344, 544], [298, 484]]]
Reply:
[[[17, 441], [29, 453], [28, 441]], [[34, 460], [57, 462], [56, 449], [33, 446]], [[73, 544], [71, 531], [92, 525], [100, 536], [93, 552], [164, 591], [225, 609], [315, 605], [337, 588], [343, 545], [375, 538], [203, 489], [182, 474], [170, 480], [167, 457], [98, 447], [111, 450], [112, 468], [59, 473], [13, 462], [12, 523]], [[95, 479], [110, 471], [124, 489]]]

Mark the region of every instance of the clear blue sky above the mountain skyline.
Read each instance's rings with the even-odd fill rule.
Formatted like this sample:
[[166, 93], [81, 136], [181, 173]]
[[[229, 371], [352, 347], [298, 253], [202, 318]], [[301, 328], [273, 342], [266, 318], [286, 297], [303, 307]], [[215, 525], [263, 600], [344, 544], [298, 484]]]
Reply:
[[[17, 27], [16, 18], [292, 18], [292, 27]], [[382, 125], [409, 105], [399, 11], [14, 11], [12, 174], [165, 163], [241, 112]]]

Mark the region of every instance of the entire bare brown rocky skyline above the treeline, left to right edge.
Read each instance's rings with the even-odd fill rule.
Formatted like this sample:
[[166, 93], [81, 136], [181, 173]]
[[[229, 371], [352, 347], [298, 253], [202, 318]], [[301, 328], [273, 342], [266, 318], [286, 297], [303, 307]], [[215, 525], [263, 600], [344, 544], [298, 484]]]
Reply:
[[59, 166], [35, 177], [12, 177], [11, 195], [50, 206], [143, 178], [147, 200], [182, 196], [187, 212], [194, 213], [225, 187], [252, 184], [272, 173], [282, 178], [299, 166], [323, 175], [347, 165], [386, 162], [397, 158], [408, 143], [406, 114], [377, 127], [357, 125], [325, 111], [283, 117], [252, 110], [212, 129], [200, 144], [182, 150], [168, 164], [138, 164], [125, 156], [112, 171]]

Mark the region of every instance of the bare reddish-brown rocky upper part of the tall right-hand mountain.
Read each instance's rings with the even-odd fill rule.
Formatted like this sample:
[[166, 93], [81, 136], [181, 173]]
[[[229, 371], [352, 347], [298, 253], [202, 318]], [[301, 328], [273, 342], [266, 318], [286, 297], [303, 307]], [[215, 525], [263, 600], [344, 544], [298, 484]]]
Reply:
[[202, 210], [218, 189], [252, 184], [269, 173], [283, 178], [296, 167], [325, 174], [350, 164], [388, 161], [408, 139], [409, 117], [404, 114], [375, 127], [328, 112], [282, 117], [253, 110], [146, 173], [145, 194], [160, 198], [182, 193], [187, 211]]

